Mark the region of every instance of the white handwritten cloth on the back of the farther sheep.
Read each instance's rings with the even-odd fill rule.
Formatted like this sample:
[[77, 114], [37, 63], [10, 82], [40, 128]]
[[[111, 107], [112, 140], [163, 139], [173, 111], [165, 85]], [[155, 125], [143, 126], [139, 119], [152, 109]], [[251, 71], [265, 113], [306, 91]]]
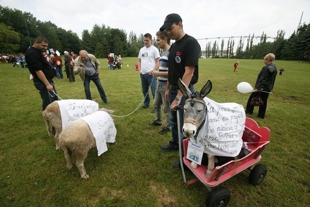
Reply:
[[99, 110], [99, 104], [86, 99], [67, 99], [57, 101], [62, 116], [62, 129], [69, 122], [87, 116]]

